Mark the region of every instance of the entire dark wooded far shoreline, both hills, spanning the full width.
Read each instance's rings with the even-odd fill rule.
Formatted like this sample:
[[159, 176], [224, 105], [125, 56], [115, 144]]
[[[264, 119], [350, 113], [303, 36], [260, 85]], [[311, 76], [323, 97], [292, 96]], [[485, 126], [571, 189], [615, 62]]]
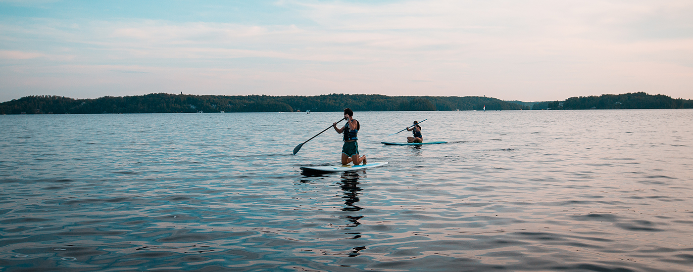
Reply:
[[505, 101], [481, 96], [382, 96], [336, 93], [322, 96], [197, 96], [150, 93], [144, 96], [104, 96], [96, 99], [26, 96], [0, 103], [0, 114], [317, 112], [342, 111], [347, 107], [354, 111], [692, 109], [693, 100], [642, 92], [581, 96], [545, 102]]

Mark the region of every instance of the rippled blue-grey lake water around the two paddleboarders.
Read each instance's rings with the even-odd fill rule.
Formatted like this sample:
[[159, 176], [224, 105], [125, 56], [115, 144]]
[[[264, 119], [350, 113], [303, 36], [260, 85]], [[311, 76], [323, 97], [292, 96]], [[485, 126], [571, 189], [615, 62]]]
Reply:
[[693, 110], [354, 117], [0, 116], [0, 271], [693, 270]]

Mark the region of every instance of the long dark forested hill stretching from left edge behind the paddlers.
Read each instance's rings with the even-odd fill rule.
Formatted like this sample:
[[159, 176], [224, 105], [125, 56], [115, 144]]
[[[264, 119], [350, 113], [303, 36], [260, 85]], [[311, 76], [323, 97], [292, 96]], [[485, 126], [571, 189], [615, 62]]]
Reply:
[[104, 96], [73, 99], [26, 96], [0, 103], [0, 114], [151, 114], [176, 112], [276, 111], [469, 111], [529, 109], [524, 105], [479, 96], [193, 96], [150, 93], [145, 96]]

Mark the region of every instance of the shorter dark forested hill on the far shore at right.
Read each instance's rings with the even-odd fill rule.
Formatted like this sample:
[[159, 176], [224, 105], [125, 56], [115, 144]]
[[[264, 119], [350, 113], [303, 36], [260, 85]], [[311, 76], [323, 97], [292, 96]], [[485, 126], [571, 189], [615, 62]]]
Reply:
[[693, 100], [647, 93], [580, 96], [563, 101], [539, 102], [532, 109], [693, 109]]

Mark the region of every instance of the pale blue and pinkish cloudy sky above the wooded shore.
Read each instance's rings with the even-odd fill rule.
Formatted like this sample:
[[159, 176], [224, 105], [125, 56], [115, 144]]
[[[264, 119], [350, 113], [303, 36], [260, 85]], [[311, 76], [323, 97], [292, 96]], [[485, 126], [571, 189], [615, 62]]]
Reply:
[[24, 96], [693, 99], [693, 1], [0, 0]]

